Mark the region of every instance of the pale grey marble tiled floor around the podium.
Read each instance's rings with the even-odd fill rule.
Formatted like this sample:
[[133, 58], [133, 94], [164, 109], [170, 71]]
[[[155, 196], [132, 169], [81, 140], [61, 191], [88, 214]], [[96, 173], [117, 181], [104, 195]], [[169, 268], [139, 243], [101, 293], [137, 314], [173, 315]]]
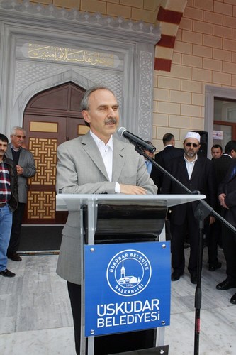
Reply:
[[[236, 305], [229, 302], [236, 289], [215, 289], [225, 279], [225, 260], [219, 253], [223, 267], [210, 272], [203, 252], [201, 355], [236, 355]], [[57, 256], [22, 259], [9, 261], [15, 278], [0, 276], [0, 354], [74, 355], [72, 314], [67, 285], [55, 273]], [[194, 354], [195, 290], [187, 271], [172, 283], [171, 324], [165, 329], [170, 355]]]

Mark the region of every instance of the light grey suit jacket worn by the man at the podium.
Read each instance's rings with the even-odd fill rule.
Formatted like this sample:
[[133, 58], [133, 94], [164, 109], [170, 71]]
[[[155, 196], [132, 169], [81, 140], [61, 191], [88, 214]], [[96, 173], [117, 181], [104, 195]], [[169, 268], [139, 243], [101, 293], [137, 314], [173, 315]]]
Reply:
[[[156, 194], [157, 187], [147, 173], [145, 159], [130, 143], [113, 137], [112, 182], [108, 180], [103, 159], [90, 133], [62, 143], [57, 148], [57, 193], [99, 194], [115, 193], [115, 182], [145, 187]], [[65, 280], [80, 284], [81, 249], [78, 212], [69, 212], [62, 231], [62, 244], [57, 263], [57, 274]]]

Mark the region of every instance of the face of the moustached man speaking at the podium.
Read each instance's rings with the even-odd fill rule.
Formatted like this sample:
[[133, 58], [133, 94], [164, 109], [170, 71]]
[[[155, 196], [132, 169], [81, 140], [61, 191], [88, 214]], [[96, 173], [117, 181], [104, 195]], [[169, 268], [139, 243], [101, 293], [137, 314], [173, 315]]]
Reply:
[[84, 121], [90, 124], [91, 131], [104, 143], [116, 132], [119, 123], [118, 103], [110, 91], [99, 89], [92, 92], [89, 110], [82, 111], [82, 114]]

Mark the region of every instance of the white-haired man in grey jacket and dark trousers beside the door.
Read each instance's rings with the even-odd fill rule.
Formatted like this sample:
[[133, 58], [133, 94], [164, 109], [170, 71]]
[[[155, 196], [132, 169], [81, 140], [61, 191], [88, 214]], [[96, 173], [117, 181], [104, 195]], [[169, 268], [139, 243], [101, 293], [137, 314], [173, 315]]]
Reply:
[[18, 255], [17, 251], [20, 244], [21, 224], [27, 202], [27, 180], [36, 174], [33, 154], [28, 149], [23, 148], [25, 139], [26, 131], [22, 127], [13, 127], [11, 130], [11, 143], [6, 151], [6, 157], [16, 163], [18, 175], [19, 202], [16, 211], [13, 212], [11, 238], [7, 249], [7, 256], [13, 261], [21, 261], [21, 256]]

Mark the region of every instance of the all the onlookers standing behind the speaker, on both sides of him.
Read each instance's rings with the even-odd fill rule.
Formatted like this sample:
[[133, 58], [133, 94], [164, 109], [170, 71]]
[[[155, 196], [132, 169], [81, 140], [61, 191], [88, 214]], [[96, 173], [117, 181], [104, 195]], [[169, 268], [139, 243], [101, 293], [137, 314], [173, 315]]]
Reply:
[[[26, 131], [22, 127], [13, 127], [11, 141], [0, 135], [0, 275], [13, 277], [6, 268], [7, 258], [21, 261], [18, 246], [21, 237], [21, 224], [27, 202], [27, 180], [36, 173], [33, 154], [23, 148]], [[154, 158], [155, 162], [179, 180], [187, 189], [206, 195], [206, 201], [221, 214], [232, 226], [236, 226], [236, 141], [227, 142], [225, 149], [215, 144], [211, 148], [212, 160], [198, 155], [201, 136], [197, 132], [188, 132], [183, 148], [175, 147], [172, 133], [162, 138], [164, 149]], [[151, 142], [149, 142], [152, 144]], [[174, 180], [164, 177], [159, 170], [146, 161], [147, 171], [158, 187], [158, 194], [186, 193]], [[17, 188], [16, 188], [17, 186]], [[170, 223], [172, 238], [172, 281], [179, 280], [184, 273], [186, 238], [190, 245], [188, 270], [191, 283], [197, 282], [198, 221], [194, 216], [197, 202], [172, 207], [167, 219]], [[221, 267], [218, 261], [218, 246], [223, 248], [227, 263], [227, 278], [216, 286], [218, 290], [236, 287], [236, 236], [227, 226], [212, 215], [206, 218], [205, 235], [208, 246], [209, 270]], [[236, 294], [230, 302], [236, 304]]]

